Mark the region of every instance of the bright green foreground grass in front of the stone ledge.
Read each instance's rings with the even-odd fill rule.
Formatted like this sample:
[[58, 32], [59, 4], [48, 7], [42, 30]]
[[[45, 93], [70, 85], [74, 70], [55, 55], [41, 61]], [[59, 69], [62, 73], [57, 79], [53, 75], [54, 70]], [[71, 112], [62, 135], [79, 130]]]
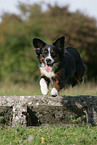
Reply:
[[97, 127], [45, 126], [1, 128], [2, 145], [96, 145]]

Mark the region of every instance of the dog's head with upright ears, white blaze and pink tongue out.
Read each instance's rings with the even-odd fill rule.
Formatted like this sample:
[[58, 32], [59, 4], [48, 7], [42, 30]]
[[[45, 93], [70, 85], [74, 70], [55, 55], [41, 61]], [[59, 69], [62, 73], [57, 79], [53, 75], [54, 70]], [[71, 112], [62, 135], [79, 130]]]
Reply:
[[65, 37], [62, 36], [48, 45], [38, 38], [33, 39], [33, 46], [40, 66], [44, 66], [47, 72], [50, 72], [53, 65], [62, 59], [64, 54]]

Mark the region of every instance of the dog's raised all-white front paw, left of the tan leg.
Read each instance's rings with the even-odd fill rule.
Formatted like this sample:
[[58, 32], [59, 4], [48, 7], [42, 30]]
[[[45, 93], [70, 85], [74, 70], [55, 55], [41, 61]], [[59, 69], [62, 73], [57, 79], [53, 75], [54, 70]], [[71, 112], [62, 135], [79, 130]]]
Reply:
[[48, 93], [48, 88], [47, 88], [47, 83], [46, 83], [46, 81], [45, 81], [44, 78], [42, 78], [42, 79], [40, 80], [40, 88], [41, 88], [41, 93], [42, 93], [43, 95], [47, 95], [47, 93]]

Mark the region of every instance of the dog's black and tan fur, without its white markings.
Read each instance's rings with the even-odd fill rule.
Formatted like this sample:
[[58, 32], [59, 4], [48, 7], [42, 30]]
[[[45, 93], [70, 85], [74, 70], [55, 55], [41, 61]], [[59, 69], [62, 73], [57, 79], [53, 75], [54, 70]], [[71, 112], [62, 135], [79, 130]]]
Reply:
[[[52, 79], [58, 81], [58, 84], [55, 85], [58, 91], [69, 84], [75, 86], [78, 82], [81, 82], [86, 71], [86, 66], [79, 52], [73, 47], [64, 47], [64, 43], [64, 36], [58, 38], [50, 45], [46, 44], [41, 39], [33, 39], [33, 46], [38, 58], [39, 67], [41, 67], [43, 63], [45, 64], [45, 58], [46, 55], [48, 55], [48, 52], [45, 54], [45, 51], [49, 47], [50, 51], [53, 51], [51, 57], [54, 59], [54, 63], [47, 65], [52, 65], [52, 71], [55, 73]], [[41, 77], [50, 82], [50, 78], [45, 76], [45, 74], [41, 74]]]

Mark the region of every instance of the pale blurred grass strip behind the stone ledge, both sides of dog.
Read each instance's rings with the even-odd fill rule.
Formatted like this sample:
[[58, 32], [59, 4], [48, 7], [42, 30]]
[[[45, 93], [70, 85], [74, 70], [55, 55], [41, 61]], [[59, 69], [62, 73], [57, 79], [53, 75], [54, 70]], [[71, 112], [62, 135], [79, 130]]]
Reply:
[[[13, 84], [0, 83], [0, 96], [33, 96], [42, 95], [39, 84], [34, 82], [32, 84]], [[65, 91], [61, 91], [59, 95], [76, 96], [76, 95], [92, 95], [97, 96], [97, 84], [84, 83], [68, 87]]]

